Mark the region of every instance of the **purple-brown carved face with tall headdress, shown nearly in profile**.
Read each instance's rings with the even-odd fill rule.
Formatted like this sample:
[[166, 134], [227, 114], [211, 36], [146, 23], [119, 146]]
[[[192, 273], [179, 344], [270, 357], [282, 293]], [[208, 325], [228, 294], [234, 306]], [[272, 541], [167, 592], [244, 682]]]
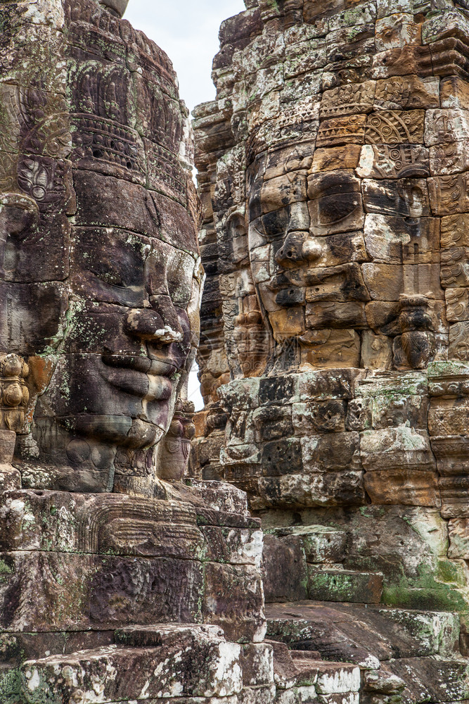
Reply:
[[0, 342], [29, 358], [26, 474], [103, 490], [154, 468], [198, 344], [200, 259], [169, 61], [94, 0], [64, 2], [61, 31], [59, 68], [0, 90]]

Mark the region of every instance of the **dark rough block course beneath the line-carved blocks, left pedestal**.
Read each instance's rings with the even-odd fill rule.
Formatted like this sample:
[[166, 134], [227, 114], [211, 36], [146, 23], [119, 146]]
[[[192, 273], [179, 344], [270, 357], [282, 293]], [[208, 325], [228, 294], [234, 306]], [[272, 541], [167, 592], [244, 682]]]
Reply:
[[1, 559], [2, 630], [80, 631], [200, 618], [203, 572], [195, 560], [45, 552]]

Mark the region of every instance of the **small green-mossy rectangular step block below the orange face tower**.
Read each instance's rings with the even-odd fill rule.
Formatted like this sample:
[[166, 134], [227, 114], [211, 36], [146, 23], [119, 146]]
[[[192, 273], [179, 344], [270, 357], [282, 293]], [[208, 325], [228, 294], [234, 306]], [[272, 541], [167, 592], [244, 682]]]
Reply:
[[383, 574], [354, 570], [308, 570], [308, 595], [318, 601], [378, 604], [383, 593]]

